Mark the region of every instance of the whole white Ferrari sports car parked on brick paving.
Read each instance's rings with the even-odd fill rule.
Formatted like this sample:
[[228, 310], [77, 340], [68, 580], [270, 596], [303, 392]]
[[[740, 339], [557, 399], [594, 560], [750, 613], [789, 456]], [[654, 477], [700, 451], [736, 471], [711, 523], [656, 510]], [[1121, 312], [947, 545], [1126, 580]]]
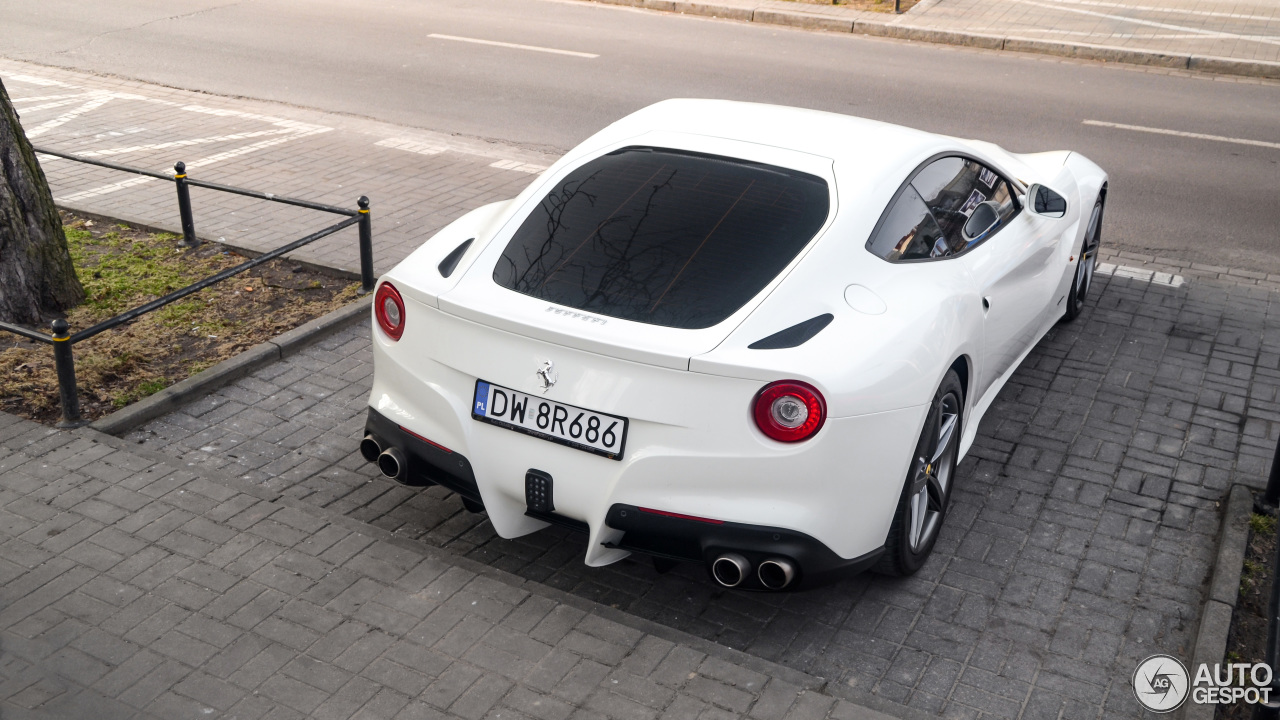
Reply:
[[668, 100], [457, 219], [374, 299], [364, 456], [503, 537], [792, 589], [910, 574], [978, 420], [1093, 277], [1107, 176]]

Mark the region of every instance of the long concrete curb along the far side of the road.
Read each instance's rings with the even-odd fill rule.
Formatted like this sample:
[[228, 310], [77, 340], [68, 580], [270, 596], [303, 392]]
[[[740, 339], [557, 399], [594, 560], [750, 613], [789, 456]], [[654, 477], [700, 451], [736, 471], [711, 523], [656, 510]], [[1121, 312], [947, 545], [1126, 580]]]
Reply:
[[[750, 8], [742, 5], [728, 5], [717, 3], [685, 3], [680, 0], [588, 0], [605, 5], [626, 5], [630, 8], [644, 8], [648, 10], [662, 10], [667, 13], [684, 13], [686, 15], [704, 15], [712, 18], [727, 18], [744, 22], [780, 24], [800, 27], [808, 29], [826, 29], [832, 32], [850, 32], [854, 35], [872, 35], [877, 37], [893, 37], [899, 40], [914, 40], [920, 42], [936, 42], [940, 45], [960, 45], [965, 47], [984, 47], [987, 50], [1009, 50], [1012, 53], [1037, 53], [1041, 55], [1056, 55], [1060, 58], [1076, 58], [1082, 60], [1100, 60], [1105, 63], [1125, 63], [1130, 65], [1147, 65], [1157, 68], [1172, 68], [1180, 70], [1197, 70], [1203, 73], [1258, 77], [1280, 79], [1280, 63], [1266, 60], [1240, 60], [1235, 58], [1215, 58], [1207, 55], [1184, 55], [1178, 53], [1156, 53], [1151, 50], [1135, 50], [1132, 47], [1116, 47], [1111, 45], [1092, 45], [1084, 42], [1057, 42], [1036, 37], [1019, 37], [1004, 35], [984, 35], [964, 31], [940, 29], [897, 23], [892, 20], [869, 20], [863, 13], [806, 13], [804, 10], [783, 10], [778, 8]], [[842, 17], [845, 15], [845, 17]], [[910, 15], [897, 15], [899, 18]]]

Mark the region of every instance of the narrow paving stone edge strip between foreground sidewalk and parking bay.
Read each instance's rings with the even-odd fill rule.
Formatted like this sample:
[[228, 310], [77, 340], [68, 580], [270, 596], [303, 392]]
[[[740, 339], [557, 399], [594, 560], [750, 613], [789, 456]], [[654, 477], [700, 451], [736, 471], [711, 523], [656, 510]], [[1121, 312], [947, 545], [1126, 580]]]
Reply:
[[[116, 450], [131, 452], [133, 455], [138, 455], [141, 457], [146, 457], [148, 460], [154, 460], [160, 464], [174, 466], [173, 457], [169, 457], [154, 450], [147, 450], [136, 443], [125, 441], [120, 437], [104, 433], [97, 428], [95, 428], [93, 425], [74, 429], [70, 432], [81, 437], [84, 437], [87, 439], [91, 439], [93, 442], [99, 442], [109, 447], [114, 447]], [[749, 670], [764, 675], [778, 678], [786, 683], [801, 688], [804, 692], [814, 692], [818, 694], [826, 694], [836, 700], [844, 700], [855, 706], [859, 706], [859, 710], [861, 712], [854, 716], [856, 717], [856, 720], [936, 720], [936, 716], [929, 715], [918, 708], [909, 707], [905, 705], [899, 705], [896, 702], [876, 697], [870, 693], [859, 691], [856, 688], [841, 683], [832, 683], [827, 678], [810, 675], [801, 670], [795, 670], [792, 667], [787, 667], [785, 665], [780, 665], [777, 662], [756, 657], [748, 652], [733, 650], [731, 647], [719, 644], [714, 641], [691, 635], [682, 630], [677, 630], [675, 628], [669, 628], [667, 625], [662, 625], [652, 620], [645, 620], [643, 618], [631, 615], [623, 610], [600, 605], [590, 600], [556, 589], [550, 585], [545, 585], [543, 583], [527, 580], [512, 573], [507, 573], [504, 570], [499, 570], [497, 568], [485, 565], [476, 560], [471, 560], [468, 557], [457, 555], [448, 548], [433, 547], [422, 544], [420, 542], [411, 541], [408, 538], [397, 536], [396, 533], [392, 533], [389, 530], [384, 530], [375, 525], [370, 525], [367, 523], [362, 523], [353, 518], [348, 518], [347, 515], [343, 515], [334, 510], [317, 507], [316, 505], [308, 503], [306, 501], [268, 491], [266, 488], [262, 488], [261, 486], [257, 486], [242, 478], [230, 477], [205, 468], [184, 466], [180, 469], [200, 475], [210, 482], [215, 482], [228, 488], [232, 488], [234, 491], [243, 492], [253, 497], [259, 497], [264, 501], [274, 502], [285, 507], [291, 507], [300, 512], [306, 512], [312, 516], [323, 518], [324, 520], [334, 525], [339, 525], [348, 530], [357, 532], [383, 542], [388, 542], [390, 544], [416, 552], [425, 557], [430, 557], [433, 560], [439, 560], [442, 562], [448, 562], [451, 565], [460, 566], [467, 571], [475, 573], [477, 575], [484, 575], [493, 580], [500, 582], [508, 587], [524, 589], [532, 594], [538, 594], [547, 600], [552, 600], [554, 602], [575, 607], [584, 612], [598, 615], [605, 620], [612, 620], [614, 623], [626, 625], [628, 628], [640, 630], [643, 633], [654, 635], [657, 638], [692, 648], [708, 656], [713, 656], [719, 660], [740, 665], [742, 667], [746, 667]]]

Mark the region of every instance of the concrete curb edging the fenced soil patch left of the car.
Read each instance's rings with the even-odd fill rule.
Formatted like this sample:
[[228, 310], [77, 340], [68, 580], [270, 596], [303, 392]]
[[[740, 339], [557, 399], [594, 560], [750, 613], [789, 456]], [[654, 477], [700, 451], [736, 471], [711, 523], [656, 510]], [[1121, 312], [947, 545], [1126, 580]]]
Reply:
[[339, 307], [287, 333], [255, 345], [234, 357], [223, 360], [202, 373], [196, 373], [180, 383], [172, 384], [128, 407], [111, 413], [106, 418], [100, 418], [90, 423], [88, 427], [110, 436], [124, 434], [148, 420], [172, 413], [197, 397], [238, 380], [264, 365], [275, 363], [317, 340], [356, 323], [369, 314], [372, 296], [367, 295], [351, 305]]

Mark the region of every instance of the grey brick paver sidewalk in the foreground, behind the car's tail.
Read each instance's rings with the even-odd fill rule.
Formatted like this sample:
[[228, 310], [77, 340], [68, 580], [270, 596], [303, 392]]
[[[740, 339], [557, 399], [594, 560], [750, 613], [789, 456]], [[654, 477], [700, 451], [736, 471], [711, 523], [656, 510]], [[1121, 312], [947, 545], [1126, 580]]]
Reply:
[[0, 414], [3, 717], [888, 719], [554, 594]]

